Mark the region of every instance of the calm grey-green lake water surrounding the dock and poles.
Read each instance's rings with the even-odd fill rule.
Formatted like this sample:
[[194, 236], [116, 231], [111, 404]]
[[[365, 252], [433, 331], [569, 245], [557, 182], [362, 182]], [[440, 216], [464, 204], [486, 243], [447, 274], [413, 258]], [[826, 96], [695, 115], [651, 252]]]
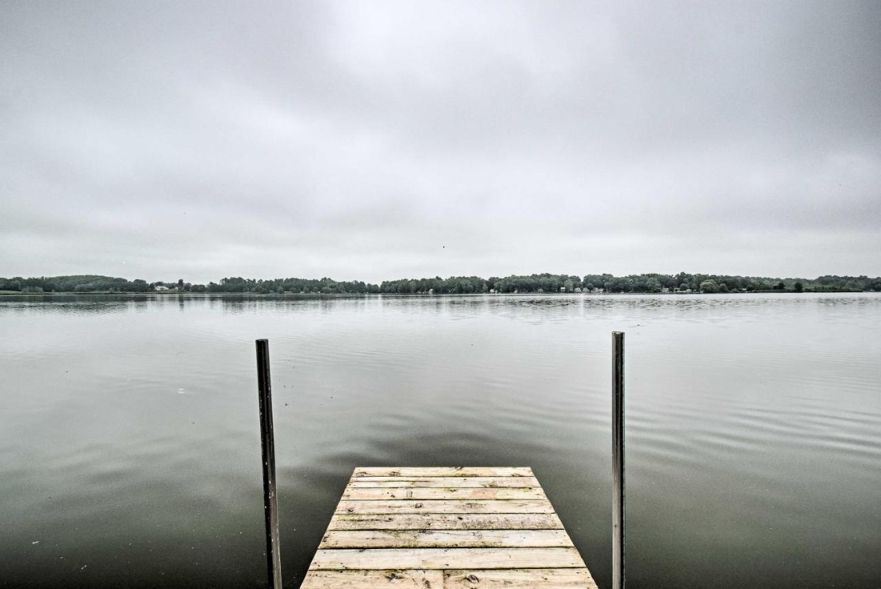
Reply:
[[532, 466], [628, 587], [881, 586], [881, 295], [0, 298], [0, 585], [264, 586], [254, 339], [285, 585], [354, 466]]

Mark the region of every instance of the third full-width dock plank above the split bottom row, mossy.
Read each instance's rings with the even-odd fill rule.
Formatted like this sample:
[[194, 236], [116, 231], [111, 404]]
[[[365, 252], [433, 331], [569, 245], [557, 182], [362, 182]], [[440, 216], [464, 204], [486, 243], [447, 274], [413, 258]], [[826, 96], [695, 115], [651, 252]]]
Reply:
[[559, 530], [556, 513], [351, 514], [337, 513], [329, 530]]

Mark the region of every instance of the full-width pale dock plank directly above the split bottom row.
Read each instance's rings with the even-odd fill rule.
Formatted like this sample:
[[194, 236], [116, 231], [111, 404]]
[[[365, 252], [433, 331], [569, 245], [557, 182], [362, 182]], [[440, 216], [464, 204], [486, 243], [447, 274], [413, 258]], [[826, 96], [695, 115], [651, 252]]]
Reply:
[[584, 567], [575, 548], [319, 549], [311, 569], [557, 569]]

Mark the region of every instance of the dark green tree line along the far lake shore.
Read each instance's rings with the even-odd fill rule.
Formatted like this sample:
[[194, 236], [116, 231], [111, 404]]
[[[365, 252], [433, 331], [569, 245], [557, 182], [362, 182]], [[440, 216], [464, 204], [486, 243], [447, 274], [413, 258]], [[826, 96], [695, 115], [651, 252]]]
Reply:
[[[39, 278], [0, 278], [0, 292], [12, 293], [151, 293], [159, 290], [189, 293], [255, 293], [255, 294], [436, 294], [467, 295], [478, 293], [661, 293], [675, 291], [726, 292], [857, 292], [881, 291], [881, 277], [825, 275], [816, 279], [764, 278], [757, 276], [730, 276], [726, 274], [529, 274], [505, 278], [479, 276], [450, 276], [449, 278], [420, 278], [385, 280], [380, 285], [360, 280], [337, 281], [330, 278], [278, 278], [273, 280], [231, 277], [204, 284], [177, 281], [147, 282], [136, 279], [113, 278], [93, 274], [73, 276], [41, 276]], [[578, 290], [576, 290], [578, 289]]]

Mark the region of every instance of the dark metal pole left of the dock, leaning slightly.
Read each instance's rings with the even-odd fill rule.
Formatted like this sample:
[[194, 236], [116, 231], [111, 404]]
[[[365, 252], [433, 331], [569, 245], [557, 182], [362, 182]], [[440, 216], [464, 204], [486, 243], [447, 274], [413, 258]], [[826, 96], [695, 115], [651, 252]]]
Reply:
[[257, 388], [260, 401], [260, 449], [263, 451], [263, 515], [266, 518], [266, 566], [270, 589], [281, 587], [278, 546], [278, 496], [275, 481], [275, 434], [272, 430], [270, 342], [257, 339]]

